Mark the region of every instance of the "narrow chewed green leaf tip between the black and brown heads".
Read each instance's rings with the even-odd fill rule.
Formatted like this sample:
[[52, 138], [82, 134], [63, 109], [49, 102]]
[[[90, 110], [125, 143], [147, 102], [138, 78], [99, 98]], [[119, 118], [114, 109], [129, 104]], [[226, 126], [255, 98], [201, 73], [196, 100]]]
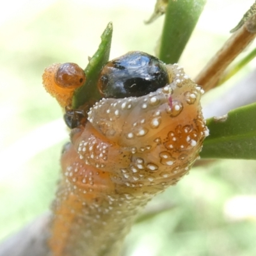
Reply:
[[113, 26], [112, 23], [109, 22], [107, 28], [102, 33], [99, 49], [95, 52], [84, 70], [86, 83], [80, 88], [77, 88], [74, 92], [72, 108], [77, 109], [85, 102], [99, 100], [102, 97], [97, 90], [97, 81], [102, 67], [104, 67], [109, 60], [112, 33]]

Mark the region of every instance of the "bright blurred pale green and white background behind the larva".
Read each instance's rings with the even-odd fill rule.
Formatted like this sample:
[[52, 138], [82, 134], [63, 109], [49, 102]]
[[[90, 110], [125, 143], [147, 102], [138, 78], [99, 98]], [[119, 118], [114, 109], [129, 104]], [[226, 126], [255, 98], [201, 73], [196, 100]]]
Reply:
[[[253, 2], [208, 1], [180, 60], [191, 77], [228, 38], [228, 31]], [[10, 0], [2, 4], [1, 240], [46, 211], [54, 198], [61, 147], [68, 133], [61, 109], [42, 87], [44, 68], [63, 62], [85, 67], [109, 21], [114, 26], [111, 58], [133, 50], [154, 54], [163, 17], [149, 26], [143, 23], [154, 10], [154, 3]], [[255, 61], [228, 86], [253, 67]], [[216, 90], [205, 97], [204, 104], [219, 93]], [[135, 225], [127, 237], [124, 255], [256, 255], [255, 181], [255, 161], [225, 160], [194, 168], [177, 186], [150, 203], [156, 208], [172, 204], [173, 209]]]

